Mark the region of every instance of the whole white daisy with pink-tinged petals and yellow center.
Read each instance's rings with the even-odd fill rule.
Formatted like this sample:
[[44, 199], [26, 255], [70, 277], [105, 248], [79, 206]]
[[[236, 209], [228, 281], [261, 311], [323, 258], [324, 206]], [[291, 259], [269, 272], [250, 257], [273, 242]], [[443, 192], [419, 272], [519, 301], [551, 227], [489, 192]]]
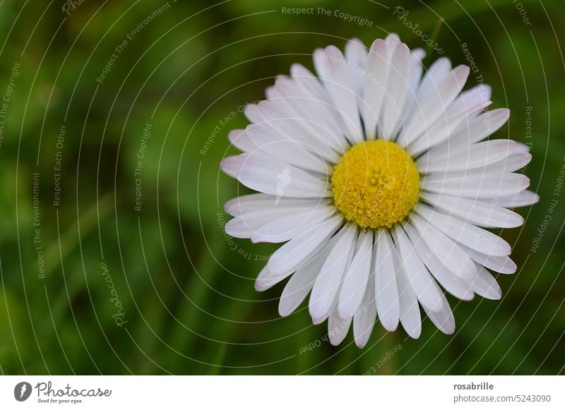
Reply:
[[[484, 111], [490, 88], [461, 92], [467, 66], [438, 59], [422, 76], [422, 49], [397, 35], [316, 49], [318, 76], [294, 64], [246, 107], [251, 125], [230, 132], [244, 153], [222, 169], [259, 193], [230, 200], [227, 234], [283, 243], [259, 273], [264, 291], [287, 277], [280, 315], [309, 297], [331, 343], [350, 324], [367, 344], [378, 316], [421, 331], [420, 307], [442, 332], [455, 320], [441, 287], [468, 301], [500, 299], [488, 270], [513, 273], [511, 246], [484, 228], [510, 228], [525, 191], [528, 147], [488, 139], [508, 109]], [[484, 141], [483, 141], [484, 140]], [[488, 270], [487, 270], [488, 269]], [[440, 287], [441, 285], [441, 287]]]

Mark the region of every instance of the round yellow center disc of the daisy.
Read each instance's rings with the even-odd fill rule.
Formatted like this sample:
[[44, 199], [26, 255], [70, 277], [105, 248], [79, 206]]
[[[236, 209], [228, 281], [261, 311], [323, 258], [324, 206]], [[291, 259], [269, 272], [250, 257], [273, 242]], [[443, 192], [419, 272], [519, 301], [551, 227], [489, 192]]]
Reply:
[[366, 141], [345, 152], [331, 184], [340, 212], [363, 228], [392, 227], [408, 215], [420, 193], [416, 164], [385, 140]]

